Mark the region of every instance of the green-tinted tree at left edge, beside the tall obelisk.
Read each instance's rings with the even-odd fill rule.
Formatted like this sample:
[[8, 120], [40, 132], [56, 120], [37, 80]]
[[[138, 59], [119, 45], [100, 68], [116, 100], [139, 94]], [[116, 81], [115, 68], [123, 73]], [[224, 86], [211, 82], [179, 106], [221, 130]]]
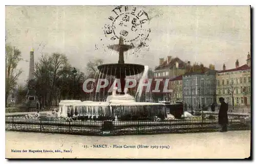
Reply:
[[10, 91], [17, 84], [17, 79], [19, 75], [22, 74], [22, 70], [17, 69], [18, 62], [22, 60], [22, 58], [20, 51], [15, 47], [12, 47], [11, 45], [6, 45], [5, 51], [5, 104], [7, 106], [7, 99], [10, 94]]

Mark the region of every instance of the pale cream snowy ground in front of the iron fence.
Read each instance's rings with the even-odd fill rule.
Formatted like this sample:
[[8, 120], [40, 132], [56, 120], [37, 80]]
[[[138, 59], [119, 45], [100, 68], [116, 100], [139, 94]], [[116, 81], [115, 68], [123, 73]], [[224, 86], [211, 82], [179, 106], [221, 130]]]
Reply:
[[[95, 144], [105, 144], [108, 148], [93, 148]], [[136, 148], [124, 148], [124, 145]], [[149, 147], [137, 149], [137, 145]], [[169, 146], [169, 149], [150, 146]], [[11, 149], [67, 149], [72, 153], [11, 153]], [[246, 158], [249, 155], [250, 131], [124, 136], [6, 131], [7, 158]]]

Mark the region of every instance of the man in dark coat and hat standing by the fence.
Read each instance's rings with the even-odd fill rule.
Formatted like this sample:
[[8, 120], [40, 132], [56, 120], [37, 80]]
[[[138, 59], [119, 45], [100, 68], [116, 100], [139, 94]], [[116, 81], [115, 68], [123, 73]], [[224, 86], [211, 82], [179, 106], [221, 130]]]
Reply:
[[219, 110], [219, 124], [222, 127], [222, 132], [227, 131], [227, 124], [228, 124], [228, 118], [227, 118], [227, 111], [228, 111], [228, 105], [224, 102], [224, 98], [220, 98], [220, 110]]

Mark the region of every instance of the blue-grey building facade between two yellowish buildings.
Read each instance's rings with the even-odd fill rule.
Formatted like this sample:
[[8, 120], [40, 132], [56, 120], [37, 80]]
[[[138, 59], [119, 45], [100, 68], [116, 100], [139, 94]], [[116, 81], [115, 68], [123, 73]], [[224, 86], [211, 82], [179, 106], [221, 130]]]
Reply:
[[198, 109], [216, 103], [216, 72], [189, 72], [182, 77], [183, 103], [188, 108]]

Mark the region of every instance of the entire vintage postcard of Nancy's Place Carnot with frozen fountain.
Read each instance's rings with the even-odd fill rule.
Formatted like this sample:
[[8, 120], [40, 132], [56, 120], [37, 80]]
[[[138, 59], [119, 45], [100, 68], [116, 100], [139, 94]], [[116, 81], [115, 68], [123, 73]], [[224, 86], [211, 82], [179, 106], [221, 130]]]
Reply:
[[6, 158], [249, 158], [250, 20], [250, 6], [6, 6]]

